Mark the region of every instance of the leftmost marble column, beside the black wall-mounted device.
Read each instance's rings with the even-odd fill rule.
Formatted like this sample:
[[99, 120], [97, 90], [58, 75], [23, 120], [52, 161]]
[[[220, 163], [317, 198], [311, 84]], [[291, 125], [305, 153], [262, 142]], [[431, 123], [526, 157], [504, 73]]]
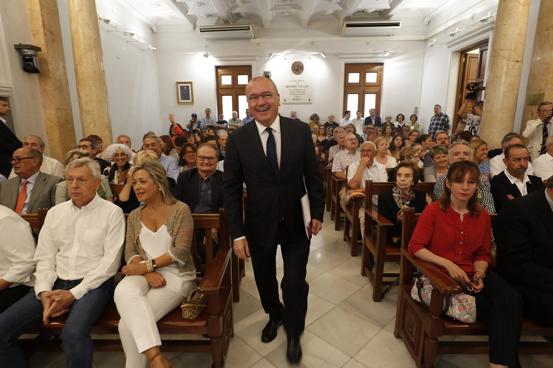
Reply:
[[40, 95], [44, 110], [50, 157], [63, 162], [65, 153], [75, 148], [75, 125], [61, 40], [58, 2], [27, 0], [33, 44], [38, 53]]

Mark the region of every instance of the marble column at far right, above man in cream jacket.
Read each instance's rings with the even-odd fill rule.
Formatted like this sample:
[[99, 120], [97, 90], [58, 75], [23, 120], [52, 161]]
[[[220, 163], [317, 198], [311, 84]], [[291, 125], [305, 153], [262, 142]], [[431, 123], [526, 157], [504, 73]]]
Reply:
[[[544, 101], [553, 100], [553, 25], [551, 19], [544, 14], [551, 14], [553, 2], [541, 1], [538, 23], [536, 24], [536, 35], [532, 49], [532, 60], [528, 74], [526, 94], [544, 93]], [[538, 119], [538, 105], [524, 106], [522, 122], [520, 124], [520, 135], [529, 120]], [[528, 138], [523, 138], [528, 144]]]

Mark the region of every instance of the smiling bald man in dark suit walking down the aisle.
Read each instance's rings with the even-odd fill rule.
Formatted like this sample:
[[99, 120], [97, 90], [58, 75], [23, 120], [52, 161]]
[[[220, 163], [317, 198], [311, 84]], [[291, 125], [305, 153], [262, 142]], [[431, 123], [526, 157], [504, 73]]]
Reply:
[[[280, 95], [269, 78], [253, 78], [246, 87], [249, 109], [255, 121], [228, 136], [225, 154], [223, 200], [234, 252], [252, 256], [259, 297], [269, 322], [262, 341], [276, 337], [284, 323], [288, 334], [286, 358], [301, 360], [300, 334], [305, 327], [305, 282], [310, 235], [321, 229], [325, 193], [309, 125], [278, 114]], [[304, 184], [305, 181], [305, 184]], [[242, 209], [242, 182], [248, 188], [246, 218]], [[301, 198], [308, 195], [312, 220], [309, 236], [302, 216]], [[284, 261], [279, 301], [276, 249]]]

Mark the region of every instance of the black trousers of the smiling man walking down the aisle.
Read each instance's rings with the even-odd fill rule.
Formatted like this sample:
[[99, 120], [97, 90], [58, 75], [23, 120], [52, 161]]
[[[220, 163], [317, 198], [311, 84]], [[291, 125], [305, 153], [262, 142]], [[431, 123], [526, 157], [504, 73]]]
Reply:
[[[276, 247], [284, 262], [284, 276], [280, 282], [284, 306], [278, 296], [278, 281], [276, 280]], [[309, 258], [310, 241], [298, 242], [290, 232], [286, 220], [279, 221], [276, 239], [272, 247], [261, 247], [249, 243], [252, 256], [255, 284], [265, 313], [269, 318], [279, 321], [283, 319], [288, 337], [299, 337], [305, 328], [307, 313], [307, 294], [309, 285], [305, 282], [307, 259]], [[286, 307], [285, 307], [286, 306]]]

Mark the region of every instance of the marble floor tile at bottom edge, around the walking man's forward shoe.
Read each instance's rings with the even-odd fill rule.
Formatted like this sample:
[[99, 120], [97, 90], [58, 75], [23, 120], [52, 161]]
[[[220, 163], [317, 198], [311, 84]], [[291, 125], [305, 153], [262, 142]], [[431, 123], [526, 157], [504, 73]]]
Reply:
[[347, 354], [307, 330], [301, 338], [303, 358], [298, 365], [293, 366], [286, 361], [286, 346], [286, 343], [281, 344], [265, 356], [265, 359], [276, 368], [336, 368], [344, 366], [350, 360]]

